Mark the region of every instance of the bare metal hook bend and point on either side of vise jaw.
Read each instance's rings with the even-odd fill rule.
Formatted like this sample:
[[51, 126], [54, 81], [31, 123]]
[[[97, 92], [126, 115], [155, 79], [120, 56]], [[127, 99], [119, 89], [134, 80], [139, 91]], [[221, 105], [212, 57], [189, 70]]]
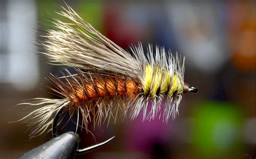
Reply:
[[[59, 109], [57, 111], [57, 113], [55, 114], [55, 117], [53, 118], [53, 121], [52, 121], [52, 137], [53, 138], [56, 138], [57, 137], [57, 125], [58, 125], [58, 120], [59, 120], [59, 116], [60, 114], [62, 114], [63, 112], [63, 108], [62, 109]], [[83, 149], [77, 149], [77, 155], [79, 154], [84, 154], [84, 153], [88, 153], [89, 151], [92, 151], [92, 150], [95, 150], [97, 148], [100, 148], [100, 147], [103, 147], [105, 146], [107, 143], [109, 143], [110, 141], [112, 141], [114, 139], [115, 136], [113, 136], [112, 138], [102, 142], [102, 143], [98, 143], [98, 144], [95, 144], [93, 146], [90, 146], [90, 147], [86, 147], [86, 148], [83, 148]]]

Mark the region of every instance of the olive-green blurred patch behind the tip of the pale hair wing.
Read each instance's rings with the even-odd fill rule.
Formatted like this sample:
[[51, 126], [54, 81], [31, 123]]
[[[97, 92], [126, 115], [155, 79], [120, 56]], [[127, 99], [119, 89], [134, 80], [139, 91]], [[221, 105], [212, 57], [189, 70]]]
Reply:
[[[82, 19], [86, 19], [98, 31], [103, 30], [103, 1], [80, 0], [76, 3], [69, 3], [69, 5]], [[65, 23], [71, 22], [68, 18], [56, 13], [62, 11], [60, 6], [66, 8], [66, 4], [62, 1], [54, 3], [52, 0], [37, 0], [38, 21], [43, 27], [52, 28], [50, 23], [52, 19], [59, 19]]]

